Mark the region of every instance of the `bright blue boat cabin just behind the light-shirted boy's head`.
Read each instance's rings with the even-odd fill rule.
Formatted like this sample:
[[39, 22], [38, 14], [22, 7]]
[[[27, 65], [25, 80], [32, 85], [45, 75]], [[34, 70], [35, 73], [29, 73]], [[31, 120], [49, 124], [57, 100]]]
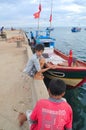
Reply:
[[31, 49], [34, 53], [34, 48], [36, 44], [43, 44], [45, 47], [54, 48], [56, 39], [50, 36], [52, 28], [46, 28], [44, 30], [36, 30], [35, 38], [33, 38], [30, 42]]

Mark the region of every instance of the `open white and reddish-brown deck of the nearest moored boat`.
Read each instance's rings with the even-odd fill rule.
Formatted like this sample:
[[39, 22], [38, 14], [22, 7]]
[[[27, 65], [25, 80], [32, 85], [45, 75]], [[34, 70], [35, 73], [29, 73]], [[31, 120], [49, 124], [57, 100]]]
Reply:
[[[44, 57], [46, 58], [46, 63], [52, 63], [54, 65], [57, 65], [57, 67], [68, 67], [68, 56], [65, 56], [64, 54], [56, 54], [54, 53], [53, 48], [46, 47], [43, 53]], [[79, 61], [76, 58], [73, 59], [73, 64], [71, 68], [73, 69], [80, 69], [85, 68], [86, 70], [86, 64], [83, 61]]]

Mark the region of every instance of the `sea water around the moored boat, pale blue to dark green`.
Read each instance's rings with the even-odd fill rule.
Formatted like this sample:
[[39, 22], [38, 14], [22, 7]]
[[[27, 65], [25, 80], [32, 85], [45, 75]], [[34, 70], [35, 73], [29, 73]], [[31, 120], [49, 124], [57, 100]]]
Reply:
[[[28, 32], [30, 29], [27, 30]], [[29, 34], [28, 34], [29, 36]], [[55, 48], [65, 54], [73, 50], [73, 56], [86, 61], [86, 30], [71, 32], [70, 27], [57, 27], [51, 32], [56, 39]], [[75, 89], [67, 90], [65, 95], [73, 109], [73, 130], [86, 130], [86, 84]]]

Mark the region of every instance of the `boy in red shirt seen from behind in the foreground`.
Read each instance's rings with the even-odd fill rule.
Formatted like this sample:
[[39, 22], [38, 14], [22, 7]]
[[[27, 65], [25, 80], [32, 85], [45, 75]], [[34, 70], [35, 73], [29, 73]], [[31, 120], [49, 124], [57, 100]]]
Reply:
[[[62, 80], [50, 81], [49, 99], [41, 99], [37, 102], [30, 115], [30, 130], [72, 130], [72, 108], [62, 98], [65, 91], [66, 85]], [[23, 124], [27, 120], [25, 117], [25, 114], [20, 116], [20, 123]]]

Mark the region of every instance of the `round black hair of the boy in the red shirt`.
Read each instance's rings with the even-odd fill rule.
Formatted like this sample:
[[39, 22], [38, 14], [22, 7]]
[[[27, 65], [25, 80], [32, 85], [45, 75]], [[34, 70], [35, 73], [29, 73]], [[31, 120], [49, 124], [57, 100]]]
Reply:
[[49, 83], [49, 90], [52, 95], [61, 95], [66, 91], [66, 84], [63, 80], [60, 79], [52, 79]]

